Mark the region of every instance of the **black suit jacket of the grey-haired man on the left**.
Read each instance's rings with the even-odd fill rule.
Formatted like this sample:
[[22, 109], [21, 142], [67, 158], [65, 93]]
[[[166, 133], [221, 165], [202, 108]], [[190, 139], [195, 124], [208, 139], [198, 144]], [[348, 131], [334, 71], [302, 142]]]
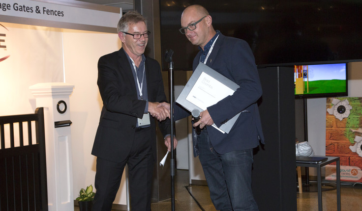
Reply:
[[[158, 62], [146, 57], [145, 66], [149, 102], [165, 102]], [[131, 149], [137, 118], [142, 118], [146, 106], [146, 101], [137, 99], [132, 69], [123, 49], [99, 58], [97, 84], [103, 107], [91, 154], [120, 162]], [[153, 157], [156, 160], [155, 119], [150, 115], [150, 120]], [[171, 133], [169, 119], [159, 126], [163, 135]]]

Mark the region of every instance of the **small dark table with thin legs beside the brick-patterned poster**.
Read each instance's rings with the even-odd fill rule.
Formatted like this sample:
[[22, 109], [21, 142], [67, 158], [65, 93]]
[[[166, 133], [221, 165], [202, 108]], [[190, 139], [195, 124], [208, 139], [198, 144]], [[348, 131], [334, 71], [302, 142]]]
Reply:
[[341, 191], [340, 191], [340, 162], [339, 157], [327, 157], [327, 156], [315, 156], [328, 158], [326, 161], [321, 163], [301, 163], [296, 162], [297, 166], [302, 167], [314, 167], [317, 168], [317, 180], [318, 180], [318, 211], [323, 211], [322, 208], [322, 179], [321, 179], [321, 167], [332, 162], [336, 162], [336, 189], [337, 189], [337, 211], [341, 210]]

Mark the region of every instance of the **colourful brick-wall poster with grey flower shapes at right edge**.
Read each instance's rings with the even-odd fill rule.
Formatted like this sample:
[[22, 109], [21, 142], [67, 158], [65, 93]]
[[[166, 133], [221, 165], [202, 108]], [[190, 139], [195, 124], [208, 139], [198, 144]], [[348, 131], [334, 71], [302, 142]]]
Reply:
[[[326, 156], [340, 158], [343, 181], [362, 182], [362, 98], [327, 98]], [[335, 180], [335, 163], [326, 179]]]

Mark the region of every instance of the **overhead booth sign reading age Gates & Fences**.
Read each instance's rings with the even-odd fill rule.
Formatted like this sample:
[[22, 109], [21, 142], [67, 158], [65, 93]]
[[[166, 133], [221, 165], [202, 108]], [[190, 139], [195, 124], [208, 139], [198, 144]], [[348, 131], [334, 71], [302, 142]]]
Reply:
[[[2, 21], [5, 17], [14, 17], [25, 19], [32, 19], [34, 23], [31, 25], [37, 25], [36, 20], [53, 22], [53, 23], [65, 23], [63, 28], [79, 27], [66, 27], [69, 24], [87, 25], [87, 26], [101, 26], [116, 28], [117, 23], [121, 18], [121, 8], [109, 7], [99, 5], [102, 9], [96, 9], [95, 6], [90, 8], [82, 8], [79, 5], [74, 6], [65, 5], [64, 2], [43, 2], [36, 0], [0, 0], [0, 18]], [[83, 5], [87, 5], [86, 3]], [[93, 4], [92, 4], [93, 5]], [[110, 11], [105, 11], [104, 8], [111, 8]], [[18, 19], [15, 19], [18, 20]], [[10, 21], [8, 21], [10, 22]], [[17, 24], [29, 24], [20, 22], [11, 22]], [[41, 24], [38, 26], [44, 26]], [[59, 27], [59, 26], [57, 26]], [[91, 30], [91, 29], [89, 29]], [[115, 33], [117, 31], [114, 31]]]

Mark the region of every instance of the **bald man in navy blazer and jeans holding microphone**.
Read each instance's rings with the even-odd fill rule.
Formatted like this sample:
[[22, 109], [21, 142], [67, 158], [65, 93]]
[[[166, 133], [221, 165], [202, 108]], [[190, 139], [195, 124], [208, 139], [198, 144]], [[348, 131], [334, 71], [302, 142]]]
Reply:
[[[264, 143], [257, 100], [262, 95], [255, 59], [249, 45], [237, 38], [224, 36], [214, 30], [209, 12], [201, 5], [183, 10], [180, 32], [200, 52], [193, 61], [193, 70], [199, 62], [237, 83], [233, 95], [224, 98], [200, 113], [193, 124], [202, 129], [193, 140], [194, 156], [199, 156], [216, 210], [257, 211], [251, 190], [253, 148]], [[229, 133], [211, 126], [225, 124], [240, 113]], [[189, 113], [174, 106], [175, 121]]]

